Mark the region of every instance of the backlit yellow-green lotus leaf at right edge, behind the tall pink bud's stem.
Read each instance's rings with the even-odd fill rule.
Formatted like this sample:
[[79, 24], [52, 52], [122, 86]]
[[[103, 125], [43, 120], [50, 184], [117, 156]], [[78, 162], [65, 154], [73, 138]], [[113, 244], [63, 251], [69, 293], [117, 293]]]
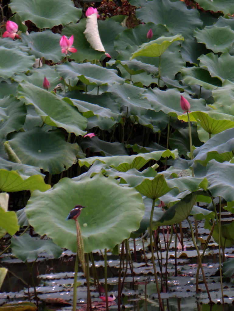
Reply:
[[[202, 128], [209, 134], [218, 134], [227, 130], [228, 128], [234, 127], [234, 116], [228, 114], [221, 114], [218, 112], [210, 111], [194, 111], [190, 113], [190, 120], [196, 121]], [[187, 115], [178, 116], [179, 120], [188, 122]]]

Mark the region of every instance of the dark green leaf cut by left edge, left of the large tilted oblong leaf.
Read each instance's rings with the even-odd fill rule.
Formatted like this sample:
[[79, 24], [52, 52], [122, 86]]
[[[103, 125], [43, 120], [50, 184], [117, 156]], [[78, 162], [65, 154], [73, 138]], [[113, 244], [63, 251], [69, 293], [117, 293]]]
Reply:
[[5, 97], [0, 102], [0, 140], [5, 138], [8, 133], [19, 131], [26, 117], [25, 104], [16, 100], [13, 96]]

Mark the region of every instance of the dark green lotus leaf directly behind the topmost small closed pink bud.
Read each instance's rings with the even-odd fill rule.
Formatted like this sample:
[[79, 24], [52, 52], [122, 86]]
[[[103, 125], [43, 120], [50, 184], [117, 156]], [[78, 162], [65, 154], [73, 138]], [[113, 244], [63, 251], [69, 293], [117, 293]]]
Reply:
[[154, 23], [147, 23], [146, 25], [138, 25], [135, 28], [126, 29], [115, 39], [115, 50], [119, 52], [119, 60], [129, 60], [132, 53], [138, 47], [147, 42], [147, 33], [152, 29], [155, 40], [161, 36], [170, 36], [170, 33], [163, 25], [155, 25]]

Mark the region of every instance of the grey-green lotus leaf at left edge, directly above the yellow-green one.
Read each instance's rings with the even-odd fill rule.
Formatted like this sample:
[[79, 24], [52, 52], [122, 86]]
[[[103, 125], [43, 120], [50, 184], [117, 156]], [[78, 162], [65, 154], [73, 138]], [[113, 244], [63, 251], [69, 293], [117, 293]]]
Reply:
[[21, 163], [13, 163], [7, 161], [0, 157], [0, 168], [6, 169], [8, 171], [17, 171], [21, 176], [32, 176], [32, 175], [41, 175], [43, 178], [44, 174], [41, 173], [40, 169], [35, 166], [25, 165]]

